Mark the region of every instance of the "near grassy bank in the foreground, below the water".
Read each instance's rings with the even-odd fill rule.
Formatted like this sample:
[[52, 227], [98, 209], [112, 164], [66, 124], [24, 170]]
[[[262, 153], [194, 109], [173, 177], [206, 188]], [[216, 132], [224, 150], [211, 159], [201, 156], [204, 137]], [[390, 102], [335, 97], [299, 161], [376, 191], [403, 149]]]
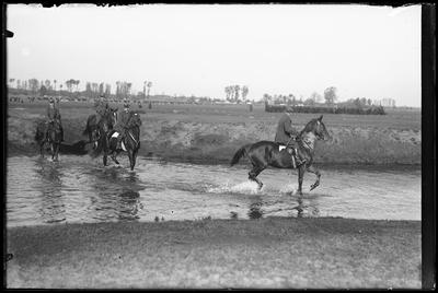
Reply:
[[8, 288], [420, 288], [415, 221], [14, 227], [8, 253]]

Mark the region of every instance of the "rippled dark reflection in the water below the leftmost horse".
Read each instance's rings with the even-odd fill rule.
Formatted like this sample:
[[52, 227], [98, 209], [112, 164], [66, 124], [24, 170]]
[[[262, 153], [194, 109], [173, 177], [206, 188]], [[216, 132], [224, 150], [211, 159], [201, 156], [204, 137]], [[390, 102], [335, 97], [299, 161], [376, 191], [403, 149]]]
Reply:
[[45, 223], [64, 222], [67, 219], [66, 204], [62, 195], [62, 173], [59, 164], [39, 162], [35, 174], [39, 177], [34, 190], [41, 191], [38, 212]]

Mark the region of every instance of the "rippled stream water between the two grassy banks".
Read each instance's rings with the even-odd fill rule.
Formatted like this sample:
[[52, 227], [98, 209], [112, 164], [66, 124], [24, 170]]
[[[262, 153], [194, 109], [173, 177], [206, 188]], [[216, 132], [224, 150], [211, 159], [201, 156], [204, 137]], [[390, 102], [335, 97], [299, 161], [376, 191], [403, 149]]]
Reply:
[[420, 169], [321, 167], [321, 185], [296, 194], [297, 172], [266, 169], [257, 190], [249, 166], [166, 163], [139, 157], [134, 172], [101, 160], [13, 156], [7, 168], [8, 226], [107, 221], [343, 216], [420, 220]]

